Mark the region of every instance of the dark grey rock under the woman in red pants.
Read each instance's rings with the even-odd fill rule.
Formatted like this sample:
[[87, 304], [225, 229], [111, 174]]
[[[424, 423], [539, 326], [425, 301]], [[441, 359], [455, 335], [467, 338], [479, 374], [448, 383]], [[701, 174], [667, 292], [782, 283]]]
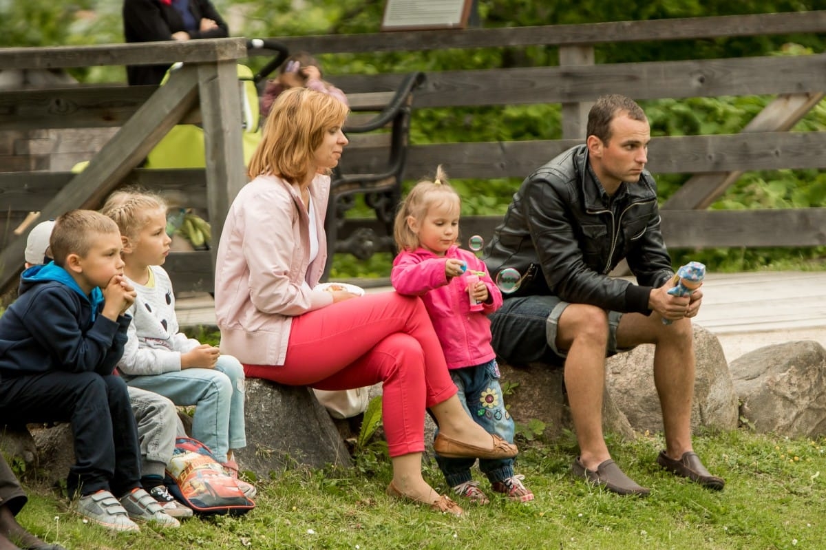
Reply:
[[246, 381], [247, 446], [235, 453], [242, 471], [268, 478], [296, 463], [349, 467], [350, 456], [327, 410], [306, 386]]

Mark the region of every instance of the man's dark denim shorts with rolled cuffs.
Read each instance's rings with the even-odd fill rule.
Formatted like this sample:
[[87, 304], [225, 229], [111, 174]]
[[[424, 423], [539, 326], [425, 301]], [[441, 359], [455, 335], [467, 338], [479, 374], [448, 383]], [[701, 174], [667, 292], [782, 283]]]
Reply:
[[[489, 315], [496, 356], [510, 364], [551, 363], [562, 365], [567, 350], [557, 348], [559, 317], [568, 306], [558, 296], [519, 296], [508, 298]], [[608, 345], [605, 356], [629, 351], [617, 348], [619, 311], [608, 312]]]

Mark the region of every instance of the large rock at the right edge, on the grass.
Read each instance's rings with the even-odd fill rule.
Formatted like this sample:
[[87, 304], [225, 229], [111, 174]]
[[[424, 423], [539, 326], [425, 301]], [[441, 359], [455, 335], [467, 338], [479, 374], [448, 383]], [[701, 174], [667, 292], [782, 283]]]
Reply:
[[826, 434], [826, 350], [812, 340], [759, 348], [731, 363], [743, 415], [761, 433]]

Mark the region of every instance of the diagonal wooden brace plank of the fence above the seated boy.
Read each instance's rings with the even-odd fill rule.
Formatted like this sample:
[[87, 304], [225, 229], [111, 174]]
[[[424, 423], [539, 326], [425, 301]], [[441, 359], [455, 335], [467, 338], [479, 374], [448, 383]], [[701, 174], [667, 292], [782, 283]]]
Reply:
[[[235, 84], [232, 88], [237, 89]], [[88, 167], [44, 206], [41, 216], [46, 219], [73, 208], [99, 206], [121, 178], [135, 168], [189, 110], [196, 98], [197, 69], [194, 65], [187, 65], [174, 72], [169, 82], [140, 107]], [[6, 288], [16, 277], [16, 272], [8, 266], [21, 263], [25, 246], [25, 239], [17, 238], [0, 253], [0, 288]]]

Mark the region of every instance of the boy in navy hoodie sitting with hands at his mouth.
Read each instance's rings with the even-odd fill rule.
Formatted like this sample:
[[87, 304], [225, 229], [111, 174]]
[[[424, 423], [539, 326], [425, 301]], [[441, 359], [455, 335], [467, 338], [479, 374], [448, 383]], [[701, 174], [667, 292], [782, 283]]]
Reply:
[[0, 317], [0, 418], [71, 424], [67, 489], [83, 517], [116, 531], [139, 530], [133, 519], [178, 527], [140, 485], [135, 416], [112, 374], [135, 301], [120, 231], [98, 212], [70, 211], [55, 221], [50, 250], [54, 261], [23, 272]]

